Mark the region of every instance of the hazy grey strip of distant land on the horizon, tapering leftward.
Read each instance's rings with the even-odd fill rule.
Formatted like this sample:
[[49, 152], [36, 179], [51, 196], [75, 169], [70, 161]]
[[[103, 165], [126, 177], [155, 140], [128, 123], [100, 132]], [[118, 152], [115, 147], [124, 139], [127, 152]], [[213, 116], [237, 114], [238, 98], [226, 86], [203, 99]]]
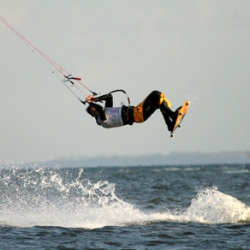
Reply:
[[72, 166], [155, 166], [155, 165], [197, 165], [197, 164], [250, 164], [250, 153], [237, 152], [173, 152], [168, 155], [114, 155], [114, 156], [76, 156], [54, 159], [48, 163]]

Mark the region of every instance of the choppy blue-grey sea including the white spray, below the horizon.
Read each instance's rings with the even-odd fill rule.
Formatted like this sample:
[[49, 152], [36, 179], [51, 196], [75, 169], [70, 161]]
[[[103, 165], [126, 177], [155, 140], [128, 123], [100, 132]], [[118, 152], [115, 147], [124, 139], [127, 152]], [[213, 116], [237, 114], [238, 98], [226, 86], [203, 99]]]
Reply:
[[250, 249], [250, 165], [2, 164], [0, 249]]

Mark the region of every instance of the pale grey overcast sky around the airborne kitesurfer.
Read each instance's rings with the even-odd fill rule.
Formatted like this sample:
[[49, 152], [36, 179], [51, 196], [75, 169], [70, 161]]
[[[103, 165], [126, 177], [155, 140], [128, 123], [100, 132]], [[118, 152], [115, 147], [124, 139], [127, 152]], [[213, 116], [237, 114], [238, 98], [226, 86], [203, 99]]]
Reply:
[[2, 162], [250, 150], [249, 0], [1, 0], [0, 15], [98, 93], [191, 101], [173, 139], [159, 110], [104, 129], [0, 21]]

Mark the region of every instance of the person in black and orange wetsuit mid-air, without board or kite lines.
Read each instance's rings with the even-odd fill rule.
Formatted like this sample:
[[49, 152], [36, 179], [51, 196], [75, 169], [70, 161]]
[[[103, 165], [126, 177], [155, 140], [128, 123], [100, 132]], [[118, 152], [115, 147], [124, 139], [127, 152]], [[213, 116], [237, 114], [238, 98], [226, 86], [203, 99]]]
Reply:
[[[105, 107], [94, 102], [105, 101]], [[163, 92], [152, 91], [143, 102], [137, 106], [121, 106], [113, 107], [113, 96], [107, 94], [99, 97], [89, 95], [86, 98], [89, 104], [86, 111], [96, 119], [98, 125], [104, 128], [114, 128], [124, 125], [132, 125], [146, 121], [157, 109], [160, 109], [168, 130], [172, 131], [175, 120], [178, 115], [178, 110], [170, 109], [171, 103], [165, 97]]]

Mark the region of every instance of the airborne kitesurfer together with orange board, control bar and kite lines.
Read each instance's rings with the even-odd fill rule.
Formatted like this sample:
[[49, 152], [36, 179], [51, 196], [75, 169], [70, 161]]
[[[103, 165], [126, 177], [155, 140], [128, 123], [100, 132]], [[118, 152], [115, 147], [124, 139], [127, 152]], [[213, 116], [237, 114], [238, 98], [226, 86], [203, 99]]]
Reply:
[[[165, 123], [168, 126], [168, 130], [171, 131], [171, 137], [172, 137], [174, 130], [176, 129], [177, 126], [179, 126], [180, 122], [184, 118], [184, 115], [188, 110], [189, 102], [188, 101], [185, 102], [182, 110], [183, 113], [178, 112], [180, 111], [180, 108], [178, 108], [176, 111], [172, 111], [170, 109], [171, 103], [165, 97], [164, 93], [156, 90], [152, 91], [144, 99], [144, 101], [139, 103], [137, 106], [130, 106], [130, 101], [128, 98], [129, 102], [128, 106], [123, 105], [121, 107], [113, 107], [112, 93], [121, 91], [126, 94], [124, 90], [120, 89], [111, 91], [110, 93], [103, 96], [94, 97], [97, 95], [96, 92], [92, 91], [86, 85], [84, 85], [81, 82], [81, 78], [72, 76], [69, 72], [63, 69], [62, 66], [60, 66], [49, 56], [47, 56], [43, 51], [36, 48], [32, 43], [30, 43], [25, 37], [23, 37], [17, 30], [15, 30], [1, 16], [0, 16], [0, 21], [5, 23], [10, 29], [12, 29], [16, 33], [16, 35], [19, 36], [26, 43], [26, 45], [28, 45], [28, 47], [32, 50], [32, 52], [36, 53], [38, 57], [41, 56], [45, 62], [47, 61], [48, 64], [52, 65], [55, 68], [55, 71], [54, 70], [52, 71], [53, 73], [61, 74], [63, 79], [61, 79], [58, 76], [58, 74], [54, 75], [59, 78], [59, 80], [71, 91], [72, 94], [74, 94], [79, 99], [79, 101], [81, 101], [81, 103], [89, 104], [89, 107], [86, 110], [91, 116], [95, 117], [98, 125], [104, 128], [114, 128], [114, 127], [124, 126], [127, 124], [132, 125], [134, 122], [141, 123], [146, 121], [155, 112], [156, 109], [160, 109], [164, 117]], [[74, 86], [77, 91], [75, 92], [74, 90], [72, 90], [68, 83], [72, 84], [72, 86]], [[85, 89], [87, 89], [92, 93], [92, 95], [89, 95], [86, 98], [86, 101], [82, 101], [80, 96], [77, 94], [77, 92], [78, 93], [82, 92], [81, 87], [84, 87]], [[105, 101], [105, 107], [102, 107], [95, 103], [98, 101]]]

